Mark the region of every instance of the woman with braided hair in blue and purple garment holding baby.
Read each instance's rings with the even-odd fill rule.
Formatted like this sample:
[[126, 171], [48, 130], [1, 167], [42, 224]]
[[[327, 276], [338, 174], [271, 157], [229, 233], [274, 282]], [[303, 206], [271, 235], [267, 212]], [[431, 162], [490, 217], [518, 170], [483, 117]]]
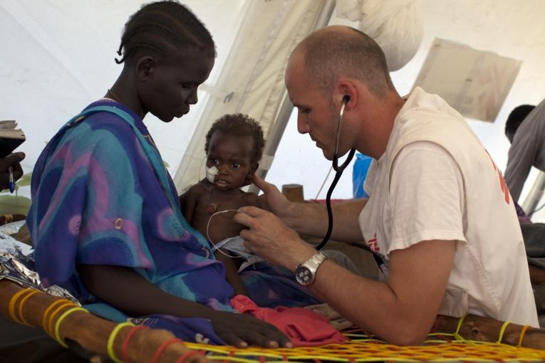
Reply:
[[183, 218], [142, 122], [148, 112], [163, 122], [189, 112], [214, 65], [212, 36], [185, 6], [159, 1], [130, 17], [118, 53], [118, 80], [61, 128], [33, 172], [27, 223], [43, 284], [111, 320], [197, 317], [219, 336], [212, 341], [291, 346], [275, 327], [233, 313], [224, 266]]

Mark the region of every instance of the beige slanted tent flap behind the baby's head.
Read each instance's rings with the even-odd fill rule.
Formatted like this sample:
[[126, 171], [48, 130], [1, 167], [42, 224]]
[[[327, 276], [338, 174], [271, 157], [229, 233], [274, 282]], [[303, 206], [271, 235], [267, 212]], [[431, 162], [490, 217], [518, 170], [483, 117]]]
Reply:
[[[227, 113], [259, 121], [267, 137], [284, 96], [284, 71], [291, 50], [311, 33], [323, 0], [251, 1], [220, 76], [214, 97], [191, 137], [174, 177], [178, 191], [199, 181], [204, 137]], [[259, 23], [259, 26], [256, 24]]]

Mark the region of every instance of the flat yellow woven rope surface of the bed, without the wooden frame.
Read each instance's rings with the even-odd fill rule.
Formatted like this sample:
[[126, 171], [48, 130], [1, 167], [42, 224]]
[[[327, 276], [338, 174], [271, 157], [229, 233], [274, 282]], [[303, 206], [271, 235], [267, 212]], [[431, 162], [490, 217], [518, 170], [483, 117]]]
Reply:
[[[433, 333], [424, 345], [400, 347], [387, 344], [360, 330], [345, 332], [346, 344], [291, 349], [264, 349], [249, 347], [212, 346], [185, 342], [195, 351], [204, 352], [207, 359], [222, 362], [539, 362], [545, 359], [545, 350], [512, 345], [457, 340], [457, 333]], [[458, 335], [460, 337], [460, 335]]]

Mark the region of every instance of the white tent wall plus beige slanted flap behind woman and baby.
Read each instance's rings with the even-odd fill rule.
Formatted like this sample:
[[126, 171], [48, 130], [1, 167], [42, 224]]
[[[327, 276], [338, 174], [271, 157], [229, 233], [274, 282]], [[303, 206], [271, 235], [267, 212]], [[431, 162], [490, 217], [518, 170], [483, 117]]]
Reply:
[[[26, 131], [26, 172], [56, 130], [113, 83], [123, 24], [144, 2], [0, 1], [0, 118], [18, 120]], [[184, 1], [214, 36], [216, 65], [189, 115], [170, 125], [152, 115], [145, 120], [179, 191], [199, 180], [204, 135], [217, 117], [244, 112], [268, 134], [285, 97], [287, 57], [326, 2]]]

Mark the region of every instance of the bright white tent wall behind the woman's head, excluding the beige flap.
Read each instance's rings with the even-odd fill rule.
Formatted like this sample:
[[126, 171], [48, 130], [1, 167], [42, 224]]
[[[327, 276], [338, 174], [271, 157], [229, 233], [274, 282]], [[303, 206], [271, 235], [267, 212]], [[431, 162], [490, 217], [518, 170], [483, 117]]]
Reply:
[[[102, 97], [122, 65], [114, 58], [128, 17], [149, 0], [1, 0], [0, 120], [17, 120], [26, 134], [31, 172], [46, 142], [73, 115]], [[207, 107], [250, 0], [184, 0], [209, 28], [217, 59], [199, 103], [166, 125], [153, 115], [145, 124], [170, 172], [180, 164], [190, 135]], [[199, 148], [201, 148], [199, 146]], [[19, 189], [29, 196], [29, 188]]]

